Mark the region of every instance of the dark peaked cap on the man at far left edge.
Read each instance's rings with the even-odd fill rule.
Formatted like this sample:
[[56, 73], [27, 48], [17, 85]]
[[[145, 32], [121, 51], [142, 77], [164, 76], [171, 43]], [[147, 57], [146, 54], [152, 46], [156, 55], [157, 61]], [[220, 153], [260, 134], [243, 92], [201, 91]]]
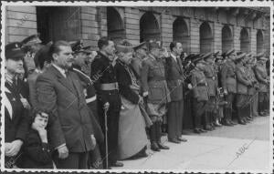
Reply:
[[12, 42], [5, 46], [5, 59], [19, 60], [24, 58], [25, 54], [21, 49], [22, 43]]

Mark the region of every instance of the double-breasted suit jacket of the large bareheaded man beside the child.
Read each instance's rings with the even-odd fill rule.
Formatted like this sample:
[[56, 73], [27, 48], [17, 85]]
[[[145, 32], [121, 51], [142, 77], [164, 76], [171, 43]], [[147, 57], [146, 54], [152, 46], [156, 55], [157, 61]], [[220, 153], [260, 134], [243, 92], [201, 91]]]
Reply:
[[52, 113], [48, 138], [53, 148], [66, 143], [70, 152], [91, 149], [90, 109], [78, 75], [68, 71], [64, 77], [56, 67], [49, 67], [37, 77], [37, 101], [39, 107]]

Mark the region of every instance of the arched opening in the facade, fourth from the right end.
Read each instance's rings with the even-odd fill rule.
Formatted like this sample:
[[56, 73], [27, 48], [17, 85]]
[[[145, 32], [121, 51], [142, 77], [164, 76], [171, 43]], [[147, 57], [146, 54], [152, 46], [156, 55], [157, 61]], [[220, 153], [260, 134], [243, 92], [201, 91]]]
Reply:
[[200, 26], [200, 53], [207, 53], [213, 51], [213, 35], [211, 27], [204, 22]]

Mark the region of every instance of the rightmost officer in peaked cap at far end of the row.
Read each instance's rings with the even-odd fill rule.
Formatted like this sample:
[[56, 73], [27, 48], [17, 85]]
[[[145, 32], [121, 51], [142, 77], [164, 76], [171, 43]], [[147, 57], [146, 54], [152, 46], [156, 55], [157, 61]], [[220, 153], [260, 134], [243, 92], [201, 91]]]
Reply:
[[255, 75], [259, 83], [258, 91], [258, 114], [260, 116], [266, 116], [267, 110], [269, 109], [268, 101], [268, 87], [269, 87], [269, 77], [266, 68], [267, 58], [263, 54], [258, 54], [258, 64], [254, 68]]

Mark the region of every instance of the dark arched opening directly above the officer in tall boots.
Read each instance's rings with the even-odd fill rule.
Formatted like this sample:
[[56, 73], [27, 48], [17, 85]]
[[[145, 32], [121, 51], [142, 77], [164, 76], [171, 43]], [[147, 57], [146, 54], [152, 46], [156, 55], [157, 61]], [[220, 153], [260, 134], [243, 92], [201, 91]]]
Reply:
[[146, 12], [140, 19], [140, 42], [160, 40], [160, 29], [157, 19], [152, 12]]

